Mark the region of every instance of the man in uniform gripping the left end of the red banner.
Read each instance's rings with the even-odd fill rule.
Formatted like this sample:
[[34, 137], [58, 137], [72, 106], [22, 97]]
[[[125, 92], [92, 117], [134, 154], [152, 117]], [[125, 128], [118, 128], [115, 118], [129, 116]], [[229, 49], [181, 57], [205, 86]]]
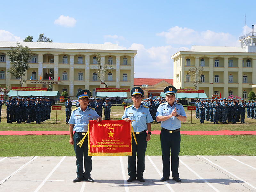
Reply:
[[[85, 142], [83, 142], [81, 147], [77, 145], [77, 143], [86, 135], [89, 120], [96, 119], [97, 122], [101, 122], [102, 120], [94, 108], [88, 107], [89, 94], [90, 91], [88, 89], [84, 89], [76, 94], [80, 106], [72, 110], [68, 122], [70, 133], [69, 143], [74, 145], [74, 151], [76, 153], [77, 178], [73, 180], [74, 183], [84, 180], [94, 182], [94, 180], [91, 178], [92, 156], [88, 156], [88, 142], [86, 142], [88, 140], [88, 135], [85, 137]], [[75, 131], [74, 135], [73, 131]]]

